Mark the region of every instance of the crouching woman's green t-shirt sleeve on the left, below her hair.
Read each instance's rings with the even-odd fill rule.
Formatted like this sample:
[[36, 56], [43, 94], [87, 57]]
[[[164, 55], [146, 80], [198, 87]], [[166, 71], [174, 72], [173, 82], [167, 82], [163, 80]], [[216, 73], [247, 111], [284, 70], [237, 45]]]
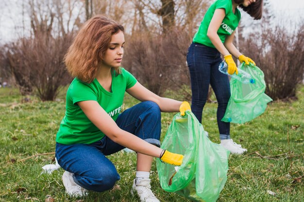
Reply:
[[94, 93], [94, 91], [88, 85], [78, 80], [74, 80], [74, 82], [68, 88], [68, 96], [73, 104], [86, 100], [97, 101], [96, 93]]

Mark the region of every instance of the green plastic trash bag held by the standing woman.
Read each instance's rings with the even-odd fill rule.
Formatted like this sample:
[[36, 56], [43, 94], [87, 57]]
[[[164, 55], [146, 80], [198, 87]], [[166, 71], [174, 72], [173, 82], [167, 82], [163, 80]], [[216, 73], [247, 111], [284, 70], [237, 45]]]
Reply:
[[243, 62], [239, 68], [249, 73], [255, 82], [244, 84], [235, 78], [230, 79], [231, 97], [225, 115], [221, 119], [223, 122], [237, 124], [249, 122], [264, 113], [267, 103], [272, 101], [264, 93], [266, 83], [263, 71], [252, 63], [246, 65]]

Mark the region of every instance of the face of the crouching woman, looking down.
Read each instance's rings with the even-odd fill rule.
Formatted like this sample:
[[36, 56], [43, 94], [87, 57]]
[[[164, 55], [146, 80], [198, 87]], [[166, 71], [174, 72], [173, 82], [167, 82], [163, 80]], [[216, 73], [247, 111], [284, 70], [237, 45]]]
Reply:
[[102, 64], [108, 67], [119, 67], [123, 56], [124, 34], [122, 31], [112, 35], [108, 49], [102, 58]]

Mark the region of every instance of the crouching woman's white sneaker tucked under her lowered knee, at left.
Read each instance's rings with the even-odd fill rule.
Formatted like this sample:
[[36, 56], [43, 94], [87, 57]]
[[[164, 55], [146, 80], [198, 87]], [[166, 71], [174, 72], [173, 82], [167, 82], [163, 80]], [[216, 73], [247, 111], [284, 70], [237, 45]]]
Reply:
[[65, 171], [62, 175], [63, 185], [66, 187], [66, 193], [72, 197], [82, 197], [87, 195], [87, 190], [79, 186], [73, 180], [73, 173]]

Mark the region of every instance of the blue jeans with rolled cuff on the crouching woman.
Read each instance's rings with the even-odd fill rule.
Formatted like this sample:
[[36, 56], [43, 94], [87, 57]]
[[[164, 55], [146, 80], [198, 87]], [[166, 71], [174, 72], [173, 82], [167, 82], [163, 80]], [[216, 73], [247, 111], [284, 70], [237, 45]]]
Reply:
[[[118, 127], [135, 136], [160, 146], [161, 113], [152, 101], [141, 102], [119, 114]], [[88, 190], [111, 189], [120, 176], [106, 155], [124, 149], [107, 136], [92, 144], [65, 145], [56, 143], [56, 158], [66, 171], [74, 173], [75, 183]]]

